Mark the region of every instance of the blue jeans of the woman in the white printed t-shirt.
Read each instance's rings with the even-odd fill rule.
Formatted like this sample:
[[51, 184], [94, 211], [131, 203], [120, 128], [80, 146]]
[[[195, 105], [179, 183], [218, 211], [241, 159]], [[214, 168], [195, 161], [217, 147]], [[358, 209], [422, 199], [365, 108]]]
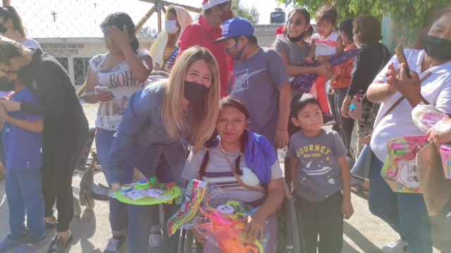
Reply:
[[[108, 153], [111, 148], [111, 143], [113, 142], [113, 136], [116, 131], [109, 131], [106, 129], [97, 129], [96, 132], [96, 150], [97, 157], [99, 157], [99, 162], [101, 169], [104, 171], [106, 182], [109, 183], [109, 167], [108, 167]], [[120, 202], [116, 199], [110, 197], [110, 225], [111, 233], [115, 236], [121, 236], [124, 234], [125, 222], [127, 218], [127, 204]]]

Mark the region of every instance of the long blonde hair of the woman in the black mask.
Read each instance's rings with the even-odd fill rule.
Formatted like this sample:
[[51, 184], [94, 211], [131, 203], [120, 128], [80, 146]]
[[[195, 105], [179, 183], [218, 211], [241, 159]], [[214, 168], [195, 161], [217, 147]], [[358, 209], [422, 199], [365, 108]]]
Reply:
[[[209, 93], [197, 103], [190, 105], [190, 115], [185, 117], [183, 94], [185, 91], [185, 74], [187, 68], [196, 60], [205, 60], [211, 71], [211, 86]], [[163, 98], [163, 124], [172, 141], [180, 140], [179, 131], [186, 133], [194, 153], [213, 134], [219, 115], [219, 99], [221, 86], [219, 84], [218, 63], [208, 49], [194, 46], [183, 51], [176, 61], [169, 76], [167, 89]]]

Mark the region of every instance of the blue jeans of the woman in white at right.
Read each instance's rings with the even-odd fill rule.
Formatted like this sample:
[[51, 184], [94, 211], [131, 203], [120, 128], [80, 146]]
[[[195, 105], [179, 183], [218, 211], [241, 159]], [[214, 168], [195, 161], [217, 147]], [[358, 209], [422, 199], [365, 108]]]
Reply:
[[381, 176], [383, 162], [373, 154], [369, 174], [369, 210], [388, 223], [409, 253], [432, 253], [431, 223], [422, 194], [394, 193]]

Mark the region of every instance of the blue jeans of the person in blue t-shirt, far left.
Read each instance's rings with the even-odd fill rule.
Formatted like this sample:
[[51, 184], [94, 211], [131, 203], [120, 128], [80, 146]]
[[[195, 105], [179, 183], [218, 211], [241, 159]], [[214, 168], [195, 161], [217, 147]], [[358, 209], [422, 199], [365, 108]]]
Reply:
[[[13, 239], [40, 240], [45, 236], [44, 197], [39, 169], [6, 170], [6, 198], [9, 207], [9, 226]], [[25, 211], [27, 226], [25, 227]]]

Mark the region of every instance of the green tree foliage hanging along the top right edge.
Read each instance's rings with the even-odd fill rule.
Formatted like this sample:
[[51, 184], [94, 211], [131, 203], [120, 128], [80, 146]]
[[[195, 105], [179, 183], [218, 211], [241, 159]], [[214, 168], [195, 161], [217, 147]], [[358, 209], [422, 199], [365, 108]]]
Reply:
[[450, 4], [450, 0], [277, 0], [280, 4], [305, 6], [316, 12], [331, 2], [337, 8], [339, 19], [354, 18], [359, 14], [370, 14], [378, 18], [392, 15], [398, 20], [411, 20], [412, 27], [425, 27], [433, 13]]

